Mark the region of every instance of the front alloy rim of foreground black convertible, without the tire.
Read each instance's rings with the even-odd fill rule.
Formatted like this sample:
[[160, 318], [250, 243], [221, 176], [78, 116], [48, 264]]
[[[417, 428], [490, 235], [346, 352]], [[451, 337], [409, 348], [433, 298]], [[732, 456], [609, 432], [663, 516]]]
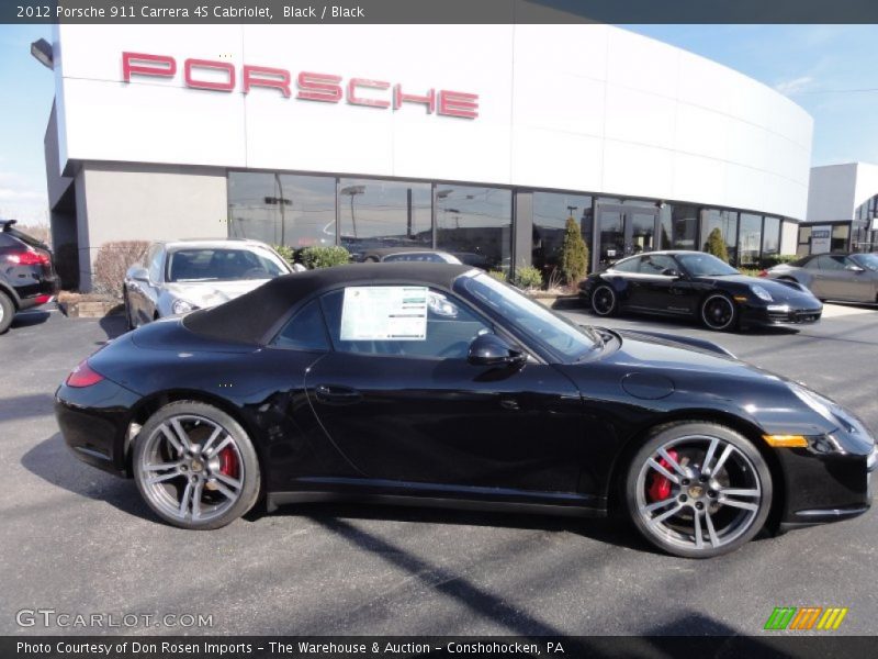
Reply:
[[658, 445], [642, 462], [635, 484], [639, 526], [660, 545], [689, 556], [723, 552], [764, 518], [765, 499], [751, 457], [710, 435]]

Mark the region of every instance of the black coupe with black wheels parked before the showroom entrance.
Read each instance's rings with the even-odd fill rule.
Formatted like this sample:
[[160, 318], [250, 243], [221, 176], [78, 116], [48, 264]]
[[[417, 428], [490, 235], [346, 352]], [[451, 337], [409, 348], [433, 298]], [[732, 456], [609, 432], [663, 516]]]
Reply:
[[823, 305], [795, 281], [747, 277], [711, 254], [650, 252], [616, 261], [579, 283], [599, 316], [635, 312], [696, 319], [708, 330], [817, 323]]

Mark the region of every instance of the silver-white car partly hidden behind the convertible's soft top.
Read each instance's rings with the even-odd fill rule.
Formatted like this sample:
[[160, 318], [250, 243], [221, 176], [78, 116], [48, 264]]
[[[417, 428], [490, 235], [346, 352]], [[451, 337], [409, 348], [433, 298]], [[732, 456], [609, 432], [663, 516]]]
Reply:
[[214, 306], [289, 275], [271, 247], [246, 238], [156, 242], [122, 286], [128, 330], [158, 319]]

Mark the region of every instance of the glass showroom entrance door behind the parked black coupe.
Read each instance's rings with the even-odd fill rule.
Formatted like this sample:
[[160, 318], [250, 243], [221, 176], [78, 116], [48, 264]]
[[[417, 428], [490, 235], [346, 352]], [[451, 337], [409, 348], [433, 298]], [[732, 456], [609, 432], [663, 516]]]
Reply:
[[655, 208], [598, 205], [596, 269], [605, 270], [620, 258], [655, 249], [657, 221], [658, 209]]

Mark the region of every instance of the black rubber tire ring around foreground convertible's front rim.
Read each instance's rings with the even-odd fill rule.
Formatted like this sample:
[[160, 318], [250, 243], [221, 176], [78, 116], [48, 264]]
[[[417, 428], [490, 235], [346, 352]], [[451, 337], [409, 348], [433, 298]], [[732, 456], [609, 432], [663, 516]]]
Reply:
[[[750, 528], [747, 528], [746, 532], [744, 532], [744, 534], [742, 534], [734, 541], [723, 545], [722, 547], [714, 548], [706, 544], [703, 549], [697, 550], [694, 548], [686, 549], [673, 545], [660, 536], [651, 533], [646, 528], [644, 522], [640, 517], [640, 513], [638, 512], [637, 481], [640, 473], [640, 468], [660, 446], [676, 437], [682, 437], [685, 435], [707, 435], [709, 437], [719, 437], [723, 442], [734, 445], [734, 447], [743, 453], [756, 468], [756, 474], [759, 478], [759, 487], [762, 488], [763, 492], [759, 501], [761, 507]], [[640, 535], [654, 547], [682, 558], [711, 558], [713, 556], [721, 556], [739, 549], [752, 540], [765, 526], [765, 522], [768, 518], [774, 499], [770, 470], [768, 469], [765, 458], [763, 458], [762, 454], [753, 445], [753, 443], [740, 433], [727, 426], [707, 422], [679, 422], [656, 428], [656, 431], [646, 439], [643, 446], [641, 446], [631, 458], [626, 471], [623, 488], [624, 507], [628, 513], [628, 518], [634, 528], [637, 528]]]

